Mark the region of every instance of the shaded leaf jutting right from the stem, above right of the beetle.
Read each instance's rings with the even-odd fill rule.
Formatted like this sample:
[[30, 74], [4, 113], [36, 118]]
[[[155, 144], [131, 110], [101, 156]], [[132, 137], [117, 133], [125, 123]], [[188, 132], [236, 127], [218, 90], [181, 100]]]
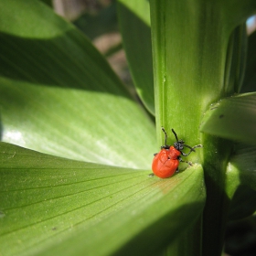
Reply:
[[256, 93], [245, 93], [212, 104], [200, 130], [223, 138], [256, 144]]

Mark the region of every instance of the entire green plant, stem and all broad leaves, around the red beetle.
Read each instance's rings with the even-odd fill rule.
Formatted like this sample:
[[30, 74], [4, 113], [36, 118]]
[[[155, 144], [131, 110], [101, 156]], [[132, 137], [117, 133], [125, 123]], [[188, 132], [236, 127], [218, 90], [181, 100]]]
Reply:
[[256, 2], [150, 9], [118, 3], [136, 91], [158, 145], [162, 125], [204, 145], [164, 180], [148, 176], [155, 123], [89, 40], [39, 1], [1, 0], [3, 255], [219, 255], [227, 221], [254, 212], [236, 198], [256, 189], [256, 94], [236, 93], [254, 90]]

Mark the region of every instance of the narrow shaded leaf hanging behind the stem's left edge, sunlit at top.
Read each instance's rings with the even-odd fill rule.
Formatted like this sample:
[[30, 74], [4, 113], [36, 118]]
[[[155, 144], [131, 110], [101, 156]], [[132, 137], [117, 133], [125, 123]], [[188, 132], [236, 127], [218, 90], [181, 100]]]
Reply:
[[118, 18], [136, 91], [155, 114], [149, 2], [119, 0]]

